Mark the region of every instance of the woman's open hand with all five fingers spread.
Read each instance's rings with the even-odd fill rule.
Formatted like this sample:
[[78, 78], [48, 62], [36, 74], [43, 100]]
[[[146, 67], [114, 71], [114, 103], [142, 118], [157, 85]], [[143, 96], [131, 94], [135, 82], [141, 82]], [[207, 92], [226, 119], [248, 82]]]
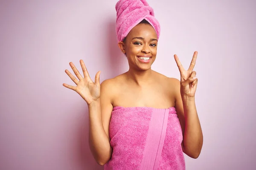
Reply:
[[99, 99], [100, 96], [100, 82], [99, 82], [99, 74], [100, 71], [97, 72], [95, 76], [95, 82], [90, 78], [89, 73], [84, 65], [83, 60], [80, 60], [81, 68], [83, 70], [84, 77], [81, 76], [79, 71], [76, 69], [75, 65], [70, 62], [70, 67], [76, 74], [77, 78], [74, 77], [68, 70], [65, 70], [70, 79], [76, 83], [76, 87], [72, 85], [67, 85], [63, 83], [63, 86], [73, 91], [76, 91], [86, 102], [87, 105], [91, 105], [94, 101]]

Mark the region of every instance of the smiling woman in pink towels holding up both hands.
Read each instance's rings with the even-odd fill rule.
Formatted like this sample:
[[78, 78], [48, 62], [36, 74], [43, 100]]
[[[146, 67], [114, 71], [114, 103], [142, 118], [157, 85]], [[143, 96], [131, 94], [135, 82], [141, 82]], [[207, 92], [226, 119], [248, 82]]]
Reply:
[[177, 55], [180, 81], [151, 70], [156, 59], [160, 25], [145, 0], [116, 3], [118, 46], [129, 70], [100, 84], [84, 77], [70, 62], [76, 91], [89, 108], [89, 144], [97, 163], [105, 170], [184, 170], [183, 153], [198, 158], [203, 136], [195, 107], [198, 79], [193, 71], [197, 52], [185, 70]]

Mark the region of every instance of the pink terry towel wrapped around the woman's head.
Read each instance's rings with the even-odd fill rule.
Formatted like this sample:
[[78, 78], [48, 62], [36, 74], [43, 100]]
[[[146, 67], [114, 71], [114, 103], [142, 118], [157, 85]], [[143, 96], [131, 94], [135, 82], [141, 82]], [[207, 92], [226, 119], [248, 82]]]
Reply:
[[143, 19], [153, 26], [160, 36], [160, 24], [154, 17], [154, 10], [145, 0], [119, 0], [116, 3], [116, 36], [117, 42], [122, 41], [134, 26]]

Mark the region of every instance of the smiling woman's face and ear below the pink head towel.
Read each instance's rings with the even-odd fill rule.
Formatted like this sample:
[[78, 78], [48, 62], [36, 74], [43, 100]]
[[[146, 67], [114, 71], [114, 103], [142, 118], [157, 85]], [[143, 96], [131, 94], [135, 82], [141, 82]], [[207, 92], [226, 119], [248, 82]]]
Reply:
[[139, 24], [132, 28], [125, 42], [119, 48], [126, 53], [130, 68], [148, 70], [157, 55], [157, 34], [149, 24]]

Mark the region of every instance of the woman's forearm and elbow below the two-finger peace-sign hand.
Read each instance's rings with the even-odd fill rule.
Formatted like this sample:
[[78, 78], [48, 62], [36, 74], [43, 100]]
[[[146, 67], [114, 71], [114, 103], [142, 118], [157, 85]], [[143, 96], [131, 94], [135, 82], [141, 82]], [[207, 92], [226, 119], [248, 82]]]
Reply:
[[203, 145], [203, 134], [195, 107], [195, 98], [182, 97], [185, 116], [183, 148], [187, 155], [197, 158]]

